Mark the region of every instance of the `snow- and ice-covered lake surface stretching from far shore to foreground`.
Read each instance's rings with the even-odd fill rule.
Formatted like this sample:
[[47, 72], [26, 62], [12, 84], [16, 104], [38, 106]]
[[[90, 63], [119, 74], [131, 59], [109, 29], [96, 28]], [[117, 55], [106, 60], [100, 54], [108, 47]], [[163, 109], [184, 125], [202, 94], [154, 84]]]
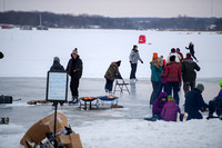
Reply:
[[[205, 102], [219, 92], [222, 80], [221, 62], [222, 36], [215, 32], [186, 31], [135, 31], [135, 30], [71, 30], [24, 31], [0, 29], [0, 95], [12, 96], [12, 105], [0, 105], [0, 117], [10, 117], [9, 125], [0, 125], [0, 148], [19, 148], [26, 131], [37, 121], [53, 112], [49, 105], [27, 105], [29, 100], [46, 99], [47, 71], [53, 57], [60, 57], [67, 67], [73, 48], [79, 48], [83, 60], [83, 78], [80, 81], [80, 97], [104, 93], [104, 72], [111, 61], [122, 60], [120, 71], [129, 82], [129, 55], [139, 36], [147, 36], [147, 43], [139, 45], [144, 63], [139, 63], [139, 81], [130, 85], [131, 95], [119, 96], [119, 105], [124, 108], [111, 109], [109, 103], [99, 109], [82, 110], [78, 106], [59, 107], [72, 129], [80, 134], [84, 148], [221, 148], [221, 120], [191, 120], [186, 122], [148, 122], [152, 86], [150, 82], [150, 60], [153, 52], [167, 57], [172, 47], [186, 53], [185, 46], [194, 42], [195, 56], [201, 71], [196, 82], [205, 87]], [[183, 111], [183, 91], [180, 92]], [[70, 91], [69, 91], [70, 99]], [[206, 114], [203, 114], [204, 118]]]

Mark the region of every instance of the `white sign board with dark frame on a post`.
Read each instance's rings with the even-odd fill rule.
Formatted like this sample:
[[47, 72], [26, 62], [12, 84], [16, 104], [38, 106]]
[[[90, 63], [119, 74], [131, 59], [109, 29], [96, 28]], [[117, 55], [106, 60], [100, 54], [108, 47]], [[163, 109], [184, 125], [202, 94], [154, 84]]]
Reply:
[[48, 72], [47, 100], [65, 101], [68, 91], [67, 72]]

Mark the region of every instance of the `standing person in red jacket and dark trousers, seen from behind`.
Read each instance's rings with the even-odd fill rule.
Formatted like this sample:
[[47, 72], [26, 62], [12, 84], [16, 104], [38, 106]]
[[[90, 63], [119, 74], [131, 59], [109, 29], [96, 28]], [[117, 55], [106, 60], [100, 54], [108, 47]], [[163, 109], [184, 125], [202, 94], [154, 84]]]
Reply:
[[175, 56], [170, 58], [170, 65], [165, 68], [165, 73], [161, 73], [161, 77], [167, 76], [167, 92], [168, 95], [172, 95], [175, 99], [175, 102], [179, 105], [180, 98], [178, 91], [180, 90], [181, 83], [181, 68], [179, 63], [175, 63]]

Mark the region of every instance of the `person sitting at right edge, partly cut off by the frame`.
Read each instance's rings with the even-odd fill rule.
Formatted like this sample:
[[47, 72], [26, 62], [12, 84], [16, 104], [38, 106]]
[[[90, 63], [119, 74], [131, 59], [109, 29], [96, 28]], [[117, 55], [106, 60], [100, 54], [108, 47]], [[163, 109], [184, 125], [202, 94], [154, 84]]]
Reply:
[[206, 119], [213, 118], [213, 114], [216, 112], [218, 117], [222, 120], [222, 81], [219, 85], [221, 90], [213, 100], [209, 101], [209, 117]]

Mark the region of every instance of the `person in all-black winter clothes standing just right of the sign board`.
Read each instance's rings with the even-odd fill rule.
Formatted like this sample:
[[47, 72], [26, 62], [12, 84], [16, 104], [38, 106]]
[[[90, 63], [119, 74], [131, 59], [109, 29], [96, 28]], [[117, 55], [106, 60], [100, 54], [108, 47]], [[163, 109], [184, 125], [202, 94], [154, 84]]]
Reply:
[[78, 55], [78, 49], [75, 48], [71, 53], [71, 59], [68, 62], [67, 71], [71, 77], [70, 90], [72, 93], [72, 100], [70, 103], [77, 103], [79, 101], [79, 82], [82, 76], [82, 60]]

